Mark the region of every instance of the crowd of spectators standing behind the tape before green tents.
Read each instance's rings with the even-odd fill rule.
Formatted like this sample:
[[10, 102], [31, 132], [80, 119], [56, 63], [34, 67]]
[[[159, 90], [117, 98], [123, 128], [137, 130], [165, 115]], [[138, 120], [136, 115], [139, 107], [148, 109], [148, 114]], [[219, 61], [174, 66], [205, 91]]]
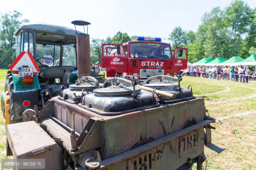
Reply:
[[[185, 76], [204, 77], [217, 80], [230, 80], [248, 83], [248, 79], [255, 80], [255, 73], [248, 66], [192, 66], [183, 70]], [[251, 75], [251, 76], [250, 76]], [[253, 77], [254, 76], [254, 77]]]

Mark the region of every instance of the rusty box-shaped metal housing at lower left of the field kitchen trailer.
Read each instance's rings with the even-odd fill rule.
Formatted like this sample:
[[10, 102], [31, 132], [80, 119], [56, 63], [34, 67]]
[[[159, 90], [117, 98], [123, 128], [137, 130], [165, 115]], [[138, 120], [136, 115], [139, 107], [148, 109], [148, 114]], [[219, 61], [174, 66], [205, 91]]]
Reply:
[[34, 121], [7, 125], [7, 139], [13, 159], [45, 159], [45, 169], [64, 169], [60, 147]]

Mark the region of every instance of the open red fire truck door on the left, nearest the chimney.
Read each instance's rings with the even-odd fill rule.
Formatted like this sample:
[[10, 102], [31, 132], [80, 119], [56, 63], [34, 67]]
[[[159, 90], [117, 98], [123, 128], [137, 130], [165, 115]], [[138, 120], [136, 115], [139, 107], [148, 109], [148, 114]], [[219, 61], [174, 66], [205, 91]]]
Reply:
[[117, 44], [102, 44], [102, 68], [107, 68], [107, 74], [110, 69], [118, 73], [127, 73], [127, 55], [123, 45], [119, 44], [120, 54], [117, 54], [116, 47], [105, 47], [105, 51], [104, 46], [106, 45], [116, 46]]

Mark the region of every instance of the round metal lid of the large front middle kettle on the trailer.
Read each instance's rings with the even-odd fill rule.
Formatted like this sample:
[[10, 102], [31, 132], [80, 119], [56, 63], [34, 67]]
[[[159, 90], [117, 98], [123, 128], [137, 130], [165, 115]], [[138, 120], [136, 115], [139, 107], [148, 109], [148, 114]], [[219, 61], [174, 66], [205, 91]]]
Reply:
[[[139, 93], [140, 91], [141, 89], [139, 87], [135, 87], [136, 93]], [[106, 88], [95, 89], [93, 90], [93, 93], [96, 95], [105, 96], [132, 94], [133, 87], [110, 86]]]

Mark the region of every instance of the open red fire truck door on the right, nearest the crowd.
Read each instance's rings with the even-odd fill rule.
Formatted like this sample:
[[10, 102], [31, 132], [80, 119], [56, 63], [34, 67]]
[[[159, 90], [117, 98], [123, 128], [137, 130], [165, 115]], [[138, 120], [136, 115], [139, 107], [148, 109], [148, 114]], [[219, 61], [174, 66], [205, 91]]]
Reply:
[[175, 47], [173, 54], [173, 76], [187, 68], [187, 48]]

